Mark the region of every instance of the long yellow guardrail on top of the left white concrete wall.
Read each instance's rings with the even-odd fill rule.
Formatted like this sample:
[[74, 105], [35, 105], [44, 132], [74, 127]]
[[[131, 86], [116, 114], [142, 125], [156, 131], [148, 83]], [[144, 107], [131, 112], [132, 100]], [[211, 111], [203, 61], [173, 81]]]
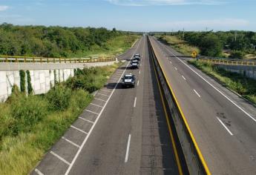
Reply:
[[27, 62], [27, 63], [91, 63], [91, 62], [113, 62], [114, 58], [45, 58], [30, 56], [0, 56], [0, 62]]

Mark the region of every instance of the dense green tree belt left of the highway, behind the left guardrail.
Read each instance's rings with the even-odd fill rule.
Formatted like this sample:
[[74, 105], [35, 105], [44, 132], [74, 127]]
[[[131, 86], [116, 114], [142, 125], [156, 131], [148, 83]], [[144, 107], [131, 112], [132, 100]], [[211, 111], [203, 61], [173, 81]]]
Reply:
[[123, 41], [125, 44], [119, 46], [126, 49], [136, 38], [115, 28], [16, 26], [4, 23], [0, 25], [0, 55], [82, 57], [95, 53], [95, 50], [113, 50], [110, 44], [115, 39], [126, 39]]

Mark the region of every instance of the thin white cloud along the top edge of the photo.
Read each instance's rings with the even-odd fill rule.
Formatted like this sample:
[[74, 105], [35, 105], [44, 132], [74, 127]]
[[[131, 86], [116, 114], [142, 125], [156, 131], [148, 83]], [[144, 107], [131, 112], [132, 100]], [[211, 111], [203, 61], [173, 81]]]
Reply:
[[217, 5], [225, 4], [227, 1], [217, 0], [106, 0], [111, 4], [122, 6], [151, 6], [151, 5], [188, 5], [188, 4], [205, 4]]

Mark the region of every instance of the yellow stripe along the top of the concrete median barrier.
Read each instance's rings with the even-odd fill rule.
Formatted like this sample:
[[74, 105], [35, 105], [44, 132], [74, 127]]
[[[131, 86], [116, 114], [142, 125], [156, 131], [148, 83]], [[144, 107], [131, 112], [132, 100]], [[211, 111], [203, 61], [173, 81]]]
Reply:
[[[154, 47], [152, 47], [152, 49], [154, 50]], [[154, 51], [154, 53], [156, 53], [156, 52]], [[158, 60], [157, 60], [157, 62], [158, 62]], [[167, 82], [167, 84], [168, 84], [168, 87], [169, 87], [169, 89], [171, 90], [171, 95], [174, 97], [174, 101], [175, 101], [175, 103], [177, 104], [177, 108], [178, 108], [178, 110], [180, 111], [180, 114], [181, 114], [181, 116], [182, 116], [182, 118], [183, 118], [183, 122], [185, 123], [186, 128], [188, 129], [188, 133], [189, 133], [189, 135], [191, 136], [192, 142], [194, 143], [194, 147], [196, 148], [197, 154], [198, 154], [198, 156], [199, 156], [199, 158], [200, 158], [200, 160], [201, 160], [201, 162], [202, 162], [202, 164], [203, 164], [203, 168], [205, 168], [206, 174], [209, 174], [209, 175], [210, 175], [211, 172], [209, 171], [209, 168], [208, 168], [208, 165], [207, 165], [207, 163], [206, 163], [206, 160], [203, 158], [203, 154], [201, 153], [200, 148], [198, 147], [197, 142], [196, 142], [196, 140], [194, 139], [194, 135], [193, 135], [191, 129], [189, 128], [189, 126], [188, 126], [188, 122], [187, 122], [187, 120], [186, 120], [185, 115], [183, 114], [183, 110], [180, 108], [180, 104], [179, 104], [179, 102], [178, 102], [178, 100], [177, 100], [177, 98], [176, 98], [176, 96], [175, 96], [175, 94], [174, 94], [174, 90], [171, 88], [171, 85], [170, 85], [170, 83], [168, 82], [168, 79], [166, 78], [167, 76], [165, 75], [165, 72], [164, 72], [164, 70], [163, 70], [162, 65], [160, 64], [160, 62], [158, 62], [158, 64], [160, 65], [160, 69], [161, 69], [162, 72], [163, 72], [163, 76], [165, 77], [165, 80], [166, 80], [166, 82]]]

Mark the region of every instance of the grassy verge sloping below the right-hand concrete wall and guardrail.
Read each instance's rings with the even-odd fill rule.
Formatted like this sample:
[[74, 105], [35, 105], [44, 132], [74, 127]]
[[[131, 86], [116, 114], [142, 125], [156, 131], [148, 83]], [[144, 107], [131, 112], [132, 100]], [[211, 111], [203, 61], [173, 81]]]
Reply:
[[200, 60], [188, 61], [191, 65], [194, 65], [198, 69], [202, 70], [209, 76], [214, 77], [226, 87], [239, 93], [250, 102], [256, 104], [256, 81], [249, 79], [246, 76], [242, 76], [239, 73], [232, 73], [217, 67], [211, 63], [201, 62]]

